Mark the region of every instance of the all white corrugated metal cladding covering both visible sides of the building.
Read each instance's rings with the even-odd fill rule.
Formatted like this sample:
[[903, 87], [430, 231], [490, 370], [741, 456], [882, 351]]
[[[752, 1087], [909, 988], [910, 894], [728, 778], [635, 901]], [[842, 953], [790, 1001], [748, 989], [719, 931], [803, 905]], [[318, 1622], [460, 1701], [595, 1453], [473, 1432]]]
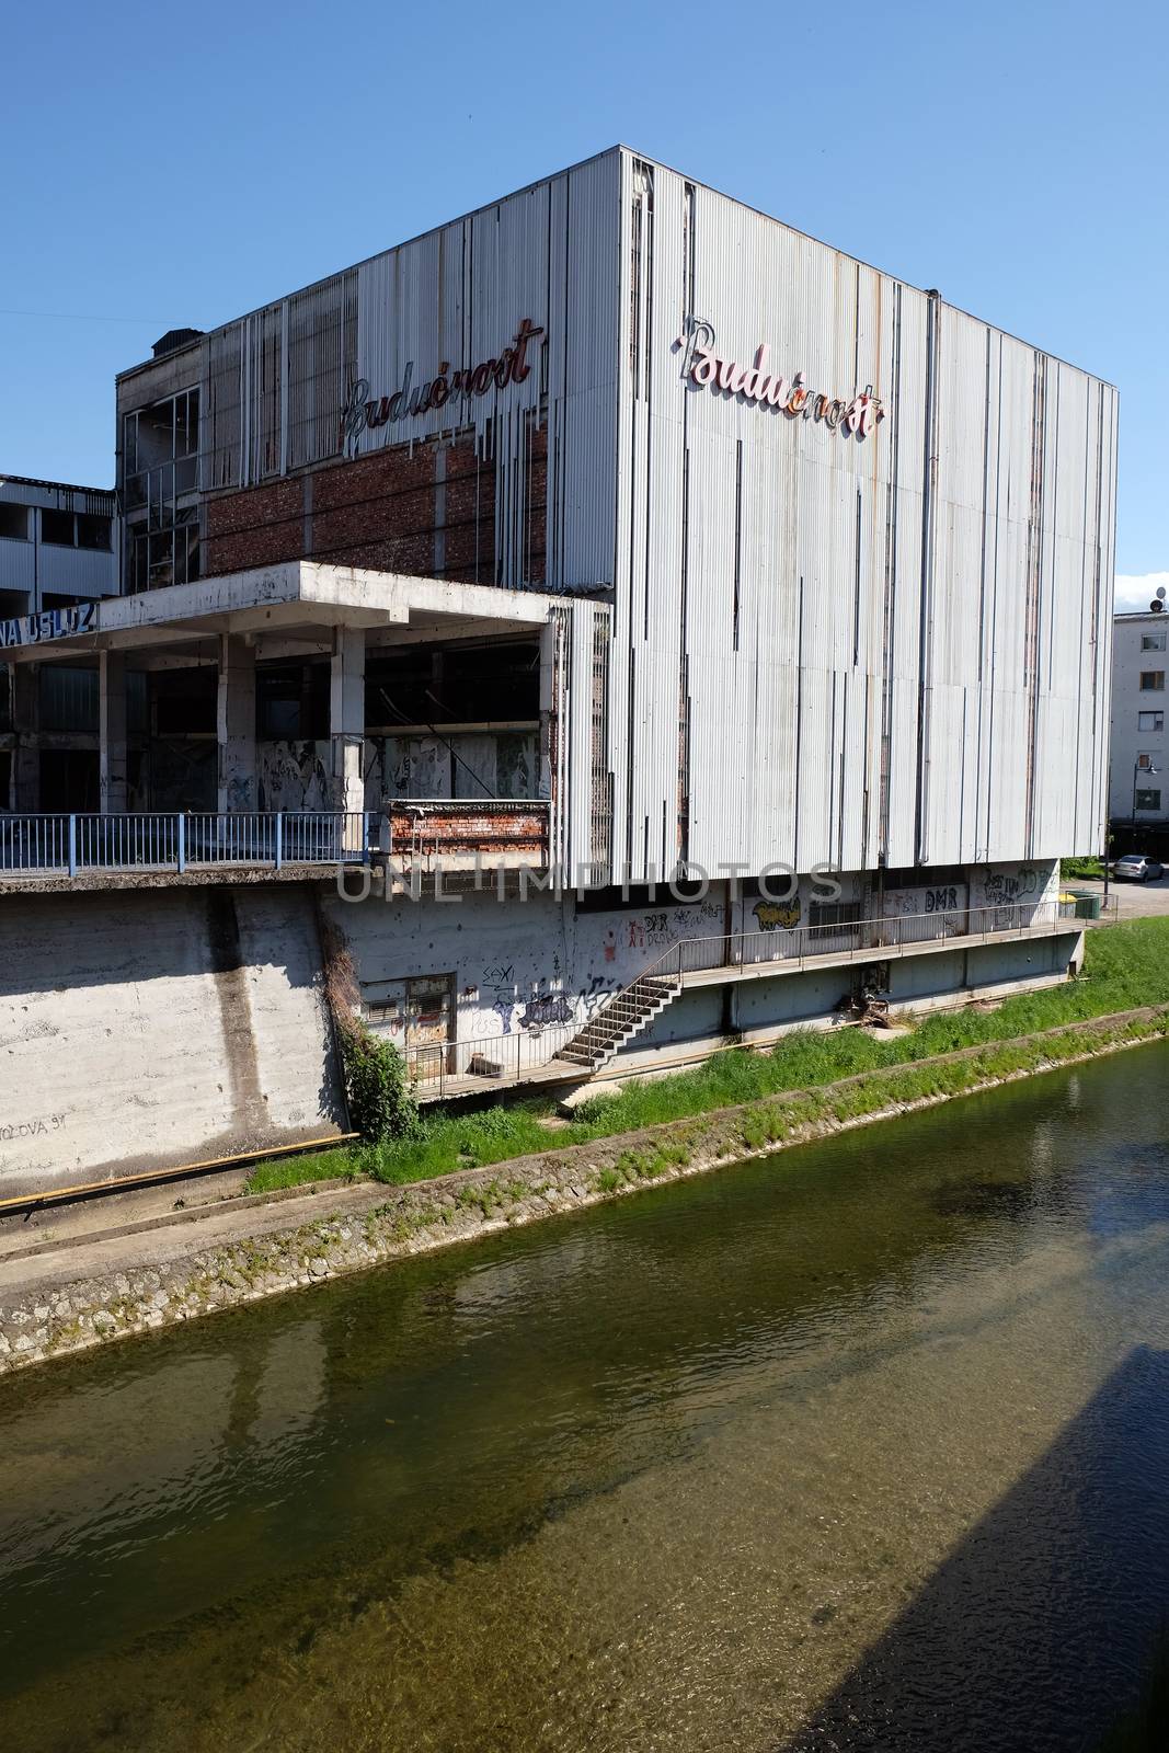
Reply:
[[[592, 820], [634, 880], [1099, 847], [1115, 391], [626, 149], [207, 337], [203, 484], [337, 461], [356, 380], [494, 363], [524, 319], [540, 372], [358, 449], [473, 429], [496, 580], [612, 589], [608, 678], [573, 642], [577, 845]], [[694, 380], [696, 347], [743, 370], [761, 345], [783, 400]]]

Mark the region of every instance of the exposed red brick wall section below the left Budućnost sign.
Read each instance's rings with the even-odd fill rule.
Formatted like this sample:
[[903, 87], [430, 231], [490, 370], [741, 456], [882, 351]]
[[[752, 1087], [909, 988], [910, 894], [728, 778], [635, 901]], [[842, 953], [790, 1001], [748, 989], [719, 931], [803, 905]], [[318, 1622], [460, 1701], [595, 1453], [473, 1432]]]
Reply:
[[[522, 580], [545, 580], [547, 435], [526, 435]], [[203, 575], [322, 559], [494, 584], [496, 468], [473, 444], [419, 444], [207, 501]]]

